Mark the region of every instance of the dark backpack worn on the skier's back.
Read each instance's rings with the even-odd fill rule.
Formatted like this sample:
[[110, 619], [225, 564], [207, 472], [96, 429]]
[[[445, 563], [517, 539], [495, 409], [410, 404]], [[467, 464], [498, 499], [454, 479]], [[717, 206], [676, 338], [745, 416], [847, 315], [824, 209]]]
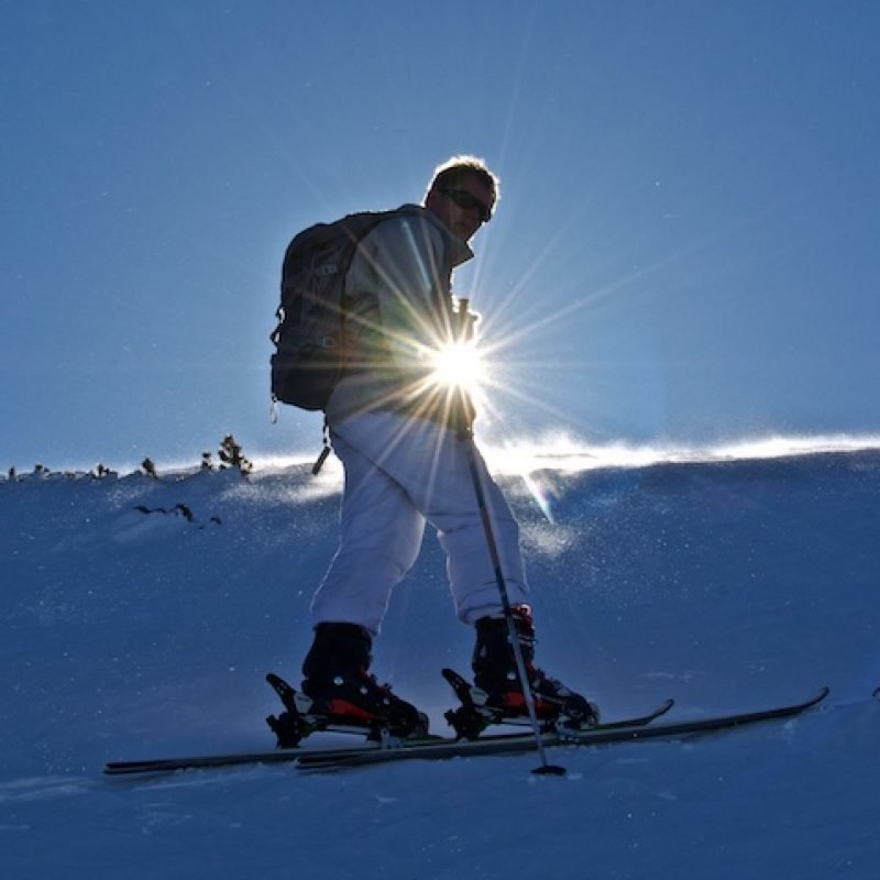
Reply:
[[352, 257], [378, 223], [406, 210], [362, 211], [316, 223], [287, 246], [278, 324], [271, 337], [273, 402], [327, 407], [351, 354], [353, 333], [345, 327], [351, 304], [344, 290]]

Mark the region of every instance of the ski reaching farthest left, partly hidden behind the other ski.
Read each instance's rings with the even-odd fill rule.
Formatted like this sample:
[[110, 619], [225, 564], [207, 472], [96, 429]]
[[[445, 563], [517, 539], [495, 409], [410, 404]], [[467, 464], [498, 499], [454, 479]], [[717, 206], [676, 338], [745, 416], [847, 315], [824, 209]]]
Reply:
[[[644, 727], [645, 725], [650, 724], [656, 718], [659, 718], [661, 715], [664, 715], [672, 708], [673, 701], [667, 700], [661, 703], [657, 708], [652, 712], [649, 712], [645, 715], [639, 715], [632, 718], [624, 718], [616, 722], [609, 722], [606, 725], [600, 725], [596, 728], [592, 728], [593, 730], [619, 730], [626, 729], [627, 727]], [[324, 730], [334, 730], [334, 732], [344, 732], [344, 733], [363, 733], [363, 729], [356, 728], [340, 728], [340, 727], [326, 727]], [[278, 748], [272, 750], [257, 750], [257, 751], [245, 751], [245, 752], [232, 752], [228, 755], [194, 755], [188, 757], [182, 758], [150, 758], [145, 760], [133, 760], [133, 761], [110, 761], [105, 765], [105, 773], [108, 776], [125, 776], [125, 774], [133, 774], [133, 773], [167, 773], [173, 772], [175, 770], [197, 770], [197, 769], [207, 769], [207, 768], [216, 768], [216, 767], [234, 767], [237, 765], [249, 765], [249, 763], [287, 763], [287, 762], [299, 762], [299, 759], [305, 759], [310, 765], [317, 765], [321, 761], [338, 761], [344, 760], [346, 758], [355, 758], [361, 755], [372, 755], [378, 752], [397, 752], [399, 750], [416, 750], [428, 748], [430, 746], [453, 746], [459, 740], [449, 738], [449, 737], [441, 737], [441, 736], [430, 736], [430, 737], [421, 737], [416, 739], [404, 739], [404, 740], [393, 740], [393, 745], [389, 743], [382, 743], [378, 740], [371, 740], [367, 741], [365, 745], [361, 746], [331, 746], [329, 748]], [[530, 734], [491, 734], [487, 736], [483, 736], [476, 743], [472, 743], [471, 745], [477, 745], [480, 743], [491, 746], [496, 743], [503, 744], [514, 744], [522, 741], [528, 744], [528, 741], [534, 743], [534, 737]], [[463, 744], [464, 745], [464, 744]], [[304, 765], [305, 766], [305, 765]]]

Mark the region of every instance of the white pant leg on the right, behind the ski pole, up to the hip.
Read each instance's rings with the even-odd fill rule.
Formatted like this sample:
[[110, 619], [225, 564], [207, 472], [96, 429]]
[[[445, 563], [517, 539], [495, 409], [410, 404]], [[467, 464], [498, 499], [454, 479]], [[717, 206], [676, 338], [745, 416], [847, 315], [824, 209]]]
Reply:
[[[437, 529], [460, 619], [474, 624], [498, 614], [502, 602], [468, 465], [469, 441], [435, 422], [392, 413], [355, 416], [337, 431], [399, 486]], [[525, 603], [528, 585], [519, 527], [479, 453], [476, 465], [510, 603]]]

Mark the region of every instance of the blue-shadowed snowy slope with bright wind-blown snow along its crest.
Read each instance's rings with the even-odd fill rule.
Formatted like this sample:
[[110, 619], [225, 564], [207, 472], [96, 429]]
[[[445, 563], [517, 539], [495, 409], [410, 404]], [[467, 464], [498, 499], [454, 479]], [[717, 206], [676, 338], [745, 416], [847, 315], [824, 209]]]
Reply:
[[[820, 448], [508, 469], [539, 663], [607, 718], [832, 688], [787, 723], [549, 750], [564, 778], [535, 755], [105, 777], [273, 745], [263, 676], [298, 681], [338, 471], [0, 481], [0, 876], [876, 877], [880, 449]], [[471, 639], [428, 537], [374, 669], [444, 732]]]

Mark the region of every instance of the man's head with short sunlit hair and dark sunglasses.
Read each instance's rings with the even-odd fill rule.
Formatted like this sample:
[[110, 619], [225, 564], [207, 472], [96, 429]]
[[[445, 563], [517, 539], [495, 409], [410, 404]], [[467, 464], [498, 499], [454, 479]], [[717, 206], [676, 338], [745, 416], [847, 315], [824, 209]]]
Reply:
[[462, 241], [470, 241], [492, 219], [498, 178], [475, 156], [453, 156], [435, 168], [425, 207]]

